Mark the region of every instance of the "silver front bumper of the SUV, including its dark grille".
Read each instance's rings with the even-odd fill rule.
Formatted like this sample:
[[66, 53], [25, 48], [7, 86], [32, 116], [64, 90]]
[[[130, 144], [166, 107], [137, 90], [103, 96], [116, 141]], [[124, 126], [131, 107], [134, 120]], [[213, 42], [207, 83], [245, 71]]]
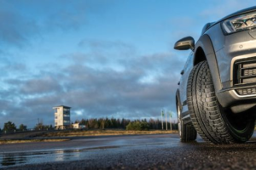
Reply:
[[250, 31], [224, 37], [224, 47], [216, 52], [216, 58], [222, 83], [216, 92], [220, 104], [241, 105], [244, 110], [256, 105], [256, 39]]

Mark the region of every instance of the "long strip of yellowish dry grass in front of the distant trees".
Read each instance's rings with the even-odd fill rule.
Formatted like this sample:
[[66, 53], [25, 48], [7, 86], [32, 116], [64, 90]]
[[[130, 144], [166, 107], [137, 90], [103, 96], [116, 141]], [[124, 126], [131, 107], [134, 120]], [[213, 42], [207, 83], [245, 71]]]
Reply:
[[168, 134], [177, 133], [177, 130], [148, 130], [148, 131], [135, 131], [135, 130], [70, 130], [62, 132], [44, 133], [43, 137], [73, 137], [73, 136], [103, 136], [103, 135], [129, 135], [129, 134]]

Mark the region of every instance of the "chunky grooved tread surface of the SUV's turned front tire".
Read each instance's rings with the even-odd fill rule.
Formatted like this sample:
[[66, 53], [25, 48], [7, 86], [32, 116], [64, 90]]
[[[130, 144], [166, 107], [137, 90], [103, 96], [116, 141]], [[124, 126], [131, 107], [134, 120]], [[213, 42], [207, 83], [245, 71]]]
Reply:
[[211, 72], [206, 61], [196, 65], [189, 75], [187, 97], [189, 114], [201, 138], [213, 144], [230, 144], [235, 140], [224, 123], [215, 96]]

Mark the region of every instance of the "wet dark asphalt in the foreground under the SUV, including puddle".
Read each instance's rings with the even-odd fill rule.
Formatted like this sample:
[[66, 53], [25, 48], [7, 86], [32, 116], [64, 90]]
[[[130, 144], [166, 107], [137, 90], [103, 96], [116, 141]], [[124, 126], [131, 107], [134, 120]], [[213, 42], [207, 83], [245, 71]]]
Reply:
[[0, 169], [256, 169], [256, 135], [230, 145], [184, 144], [177, 134], [1, 144]]

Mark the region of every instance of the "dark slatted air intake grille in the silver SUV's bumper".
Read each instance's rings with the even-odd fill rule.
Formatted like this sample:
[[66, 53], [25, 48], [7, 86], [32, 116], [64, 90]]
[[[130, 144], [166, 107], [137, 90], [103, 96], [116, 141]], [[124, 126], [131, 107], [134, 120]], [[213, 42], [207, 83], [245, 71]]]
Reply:
[[233, 80], [235, 86], [256, 82], [256, 57], [236, 60]]

